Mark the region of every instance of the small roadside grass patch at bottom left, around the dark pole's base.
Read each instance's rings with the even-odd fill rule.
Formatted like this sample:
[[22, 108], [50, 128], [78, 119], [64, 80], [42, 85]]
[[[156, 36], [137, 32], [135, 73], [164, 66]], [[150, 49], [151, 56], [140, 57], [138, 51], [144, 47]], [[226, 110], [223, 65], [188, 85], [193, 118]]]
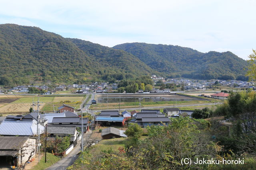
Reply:
[[60, 158], [57, 156], [54, 156], [51, 153], [46, 153], [46, 163], [44, 162], [44, 160], [45, 160], [45, 157], [42, 156], [42, 159], [40, 159], [40, 163], [37, 164], [36, 166], [33, 166], [33, 170], [44, 170], [45, 168], [58, 162], [60, 160]]

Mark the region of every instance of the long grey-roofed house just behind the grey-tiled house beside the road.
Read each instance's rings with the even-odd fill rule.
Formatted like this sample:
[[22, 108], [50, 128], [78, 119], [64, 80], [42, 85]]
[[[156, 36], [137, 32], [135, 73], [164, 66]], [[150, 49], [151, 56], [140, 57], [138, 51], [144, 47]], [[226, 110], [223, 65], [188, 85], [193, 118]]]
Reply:
[[[50, 125], [59, 126], [76, 126], [82, 130], [82, 118], [81, 117], [53, 117]], [[83, 118], [84, 133], [89, 131], [88, 117]]]

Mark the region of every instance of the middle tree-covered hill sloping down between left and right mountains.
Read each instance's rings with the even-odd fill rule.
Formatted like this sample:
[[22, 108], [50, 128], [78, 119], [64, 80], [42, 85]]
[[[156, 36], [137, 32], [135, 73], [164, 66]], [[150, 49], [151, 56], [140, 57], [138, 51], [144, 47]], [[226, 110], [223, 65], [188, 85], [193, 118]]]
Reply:
[[68, 40], [76, 44], [79, 49], [84, 51], [94, 62], [99, 63], [102, 68], [109, 70], [108, 72], [104, 72], [104, 70], [98, 69], [104, 80], [111, 82], [143, 76], [153, 72], [155, 74], [158, 73], [126, 51], [105, 47], [81, 39], [68, 38]]

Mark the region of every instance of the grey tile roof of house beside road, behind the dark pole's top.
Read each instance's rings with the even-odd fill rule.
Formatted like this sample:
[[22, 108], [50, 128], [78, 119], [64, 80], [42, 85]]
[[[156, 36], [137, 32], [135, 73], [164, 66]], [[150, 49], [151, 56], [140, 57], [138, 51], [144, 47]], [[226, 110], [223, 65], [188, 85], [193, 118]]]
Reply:
[[47, 126], [46, 133], [53, 134], [64, 134], [64, 135], [74, 135], [76, 133], [76, 126]]

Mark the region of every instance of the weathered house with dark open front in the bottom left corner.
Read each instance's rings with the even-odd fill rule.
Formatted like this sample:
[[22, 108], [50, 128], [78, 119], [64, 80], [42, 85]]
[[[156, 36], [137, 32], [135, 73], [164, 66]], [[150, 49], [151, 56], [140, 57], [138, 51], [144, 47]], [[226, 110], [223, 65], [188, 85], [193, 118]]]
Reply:
[[0, 167], [20, 167], [36, 155], [35, 137], [0, 136]]

